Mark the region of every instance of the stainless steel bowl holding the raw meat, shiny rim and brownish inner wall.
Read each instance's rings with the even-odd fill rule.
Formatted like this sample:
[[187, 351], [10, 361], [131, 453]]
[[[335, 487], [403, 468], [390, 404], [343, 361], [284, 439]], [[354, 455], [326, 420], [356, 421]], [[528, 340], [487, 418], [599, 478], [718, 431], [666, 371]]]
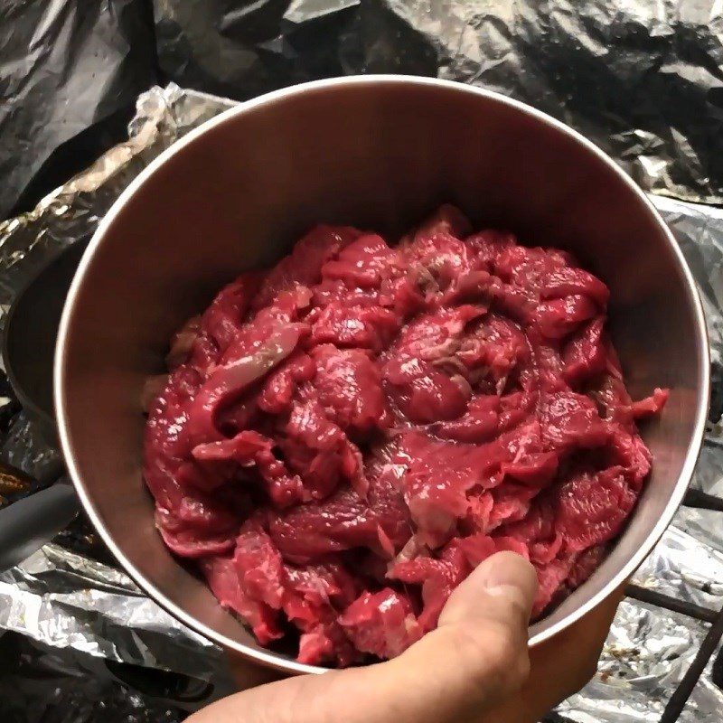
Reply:
[[325, 80], [249, 101], [192, 132], [127, 188], [70, 289], [55, 365], [63, 452], [80, 498], [140, 587], [216, 643], [290, 673], [165, 549], [140, 474], [144, 379], [187, 317], [317, 221], [396, 233], [439, 202], [524, 242], [573, 250], [612, 291], [611, 329], [634, 396], [671, 388], [643, 437], [655, 463], [615, 549], [544, 620], [575, 622], [641, 563], [695, 465], [709, 399], [706, 327], [670, 231], [582, 136], [494, 93], [441, 80]]

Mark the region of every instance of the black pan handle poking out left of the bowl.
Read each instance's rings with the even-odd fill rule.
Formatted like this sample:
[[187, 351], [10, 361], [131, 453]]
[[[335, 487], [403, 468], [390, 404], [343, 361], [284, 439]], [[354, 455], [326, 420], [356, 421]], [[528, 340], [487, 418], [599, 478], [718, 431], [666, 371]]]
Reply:
[[78, 495], [62, 480], [0, 510], [0, 571], [50, 542], [78, 512]]

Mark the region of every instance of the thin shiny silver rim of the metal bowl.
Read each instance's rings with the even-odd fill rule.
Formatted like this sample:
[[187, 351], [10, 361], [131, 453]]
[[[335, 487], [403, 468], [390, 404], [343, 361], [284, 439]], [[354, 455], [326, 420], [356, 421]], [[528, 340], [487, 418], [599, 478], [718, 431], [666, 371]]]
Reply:
[[169, 600], [164, 594], [158, 590], [153, 581], [144, 576], [131, 562], [127, 559], [123, 550], [117, 545], [116, 541], [113, 540], [110, 533], [106, 530], [106, 527], [102, 520], [99, 518], [98, 512], [93, 504], [92, 494], [86, 488], [83, 479], [80, 475], [78, 466], [76, 465], [73, 447], [70, 443], [70, 435], [68, 432], [69, 428], [69, 415], [68, 409], [65, 404], [65, 384], [64, 379], [66, 376], [66, 357], [68, 345], [69, 333], [73, 313], [78, 304], [78, 297], [80, 294], [80, 288], [83, 285], [86, 271], [89, 268], [89, 264], [94, 257], [97, 249], [102, 243], [106, 236], [106, 233], [112, 223], [116, 220], [119, 212], [126, 206], [127, 202], [138, 192], [139, 189], [146, 183], [146, 180], [150, 178], [155, 172], [163, 166], [170, 158], [177, 153], [181, 152], [185, 146], [189, 146], [196, 141], [197, 138], [211, 131], [212, 128], [221, 126], [230, 121], [231, 118], [244, 115], [250, 111], [259, 108], [261, 106], [270, 106], [277, 101], [283, 101], [284, 99], [292, 98], [297, 95], [305, 95], [306, 93], [315, 92], [324, 89], [333, 89], [338, 86], [371, 86], [371, 85], [387, 85], [393, 86], [398, 84], [412, 84], [420, 87], [427, 88], [438, 88], [445, 89], [446, 91], [454, 91], [469, 96], [477, 97], [480, 99], [490, 100], [494, 103], [499, 103], [516, 111], [524, 114], [528, 117], [532, 117], [537, 122], [553, 127], [559, 132], [571, 137], [577, 144], [584, 146], [588, 152], [596, 155], [597, 160], [606, 165], [607, 168], [617, 175], [617, 177], [627, 186], [628, 190], [637, 197], [637, 199], [643, 202], [643, 207], [653, 218], [660, 229], [663, 232], [664, 238], [667, 240], [668, 246], [670, 247], [675, 260], [681, 270], [681, 274], [684, 280], [684, 284], [687, 288], [688, 295], [692, 302], [695, 315], [695, 336], [696, 343], [698, 345], [698, 351], [700, 354], [700, 389], [698, 391], [696, 400], [696, 412], [695, 412], [695, 424], [693, 428], [692, 436], [690, 437], [690, 443], [688, 450], [685, 454], [683, 464], [681, 466], [681, 473], [671, 491], [671, 495], [665, 508], [658, 519], [653, 525], [653, 529], [648, 532], [645, 543], [636, 549], [630, 558], [626, 561], [624, 566], [610, 579], [607, 580], [606, 584], [601, 587], [595, 595], [591, 596], [582, 605], [577, 606], [574, 610], [570, 611], [568, 615], [565, 615], [559, 621], [549, 625], [545, 630], [532, 634], [529, 640], [531, 646], [538, 645], [551, 638], [553, 635], [560, 633], [567, 629], [571, 624], [574, 624], [583, 615], [586, 615], [594, 607], [598, 606], [607, 596], [611, 595], [615, 589], [617, 589], [624, 581], [631, 577], [634, 570], [639, 567], [648, 554], [651, 552], [655, 544], [661, 539], [663, 532], [670, 524], [672, 517], [679, 505], [681, 504], [683, 495], [688, 489], [690, 479], [693, 474], [694, 467], [697, 463], [698, 456], [700, 455], [700, 447], [702, 445], [703, 436], [705, 432], [705, 425], [708, 416], [709, 408], [709, 393], [710, 393], [710, 379], [709, 379], [709, 338], [708, 329], [706, 326], [705, 315], [703, 313], [703, 306], [700, 301], [700, 296], [696, 283], [690, 273], [690, 268], [682, 255], [681, 249], [678, 246], [675, 238], [673, 237], [671, 230], [662, 221], [660, 213], [655, 209], [653, 203], [647, 198], [642, 189], [634, 183], [633, 179], [625, 174], [624, 171], [615, 162], [607, 156], [598, 146], [588, 140], [585, 136], [582, 136], [573, 128], [568, 127], [561, 121], [548, 114], [522, 103], [519, 100], [511, 99], [503, 96], [500, 93], [494, 92], [493, 90], [478, 88], [476, 86], [467, 85], [464, 83], [458, 83], [452, 80], [441, 80], [437, 78], [424, 78], [418, 76], [408, 75], [362, 75], [362, 76], [347, 76], [341, 78], [332, 78], [326, 80], [314, 80], [311, 82], [301, 83], [295, 86], [290, 86], [284, 89], [278, 89], [264, 95], [258, 96], [255, 99], [250, 99], [246, 102], [239, 103], [238, 106], [229, 108], [221, 112], [218, 116], [212, 117], [211, 119], [202, 123], [201, 126], [194, 128], [188, 134], [180, 138], [172, 146], [165, 149], [160, 155], [158, 155], [146, 168], [136, 176], [136, 178], [129, 183], [127, 188], [118, 196], [117, 200], [113, 203], [109, 211], [100, 221], [98, 229], [93, 234], [90, 240], [89, 247], [80, 260], [80, 266], [73, 278], [70, 286], [70, 291], [67, 296], [67, 300], [63, 309], [61, 324], [58, 333], [58, 341], [56, 344], [55, 360], [53, 368], [53, 389], [54, 389], [54, 400], [56, 419], [58, 426], [58, 433], [61, 442], [61, 451], [65, 458], [70, 478], [75, 485], [76, 491], [80, 496], [80, 501], [83, 504], [85, 511], [87, 512], [89, 519], [93, 522], [96, 530], [99, 531], [100, 537], [108, 545], [108, 549], [111, 550], [114, 557], [118, 560], [120, 565], [127, 572], [138, 587], [140, 587], [148, 596], [155, 600], [155, 602], [164, 608], [166, 612], [173, 615], [176, 619], [188, 625], [196, 633], [202, 634], [204, 637], [211, 639], [214, 643], [220, 644], [226, 648], [240, 653], [251, 662], [258, 662], [264, 666], [273, 668], [277, 671], [283, 671], [289, 674], [300, 674], [300, 673], [322, 673], [330, 670], [322, 666], [308, 665], [301, 662], [296, 662], [284, 656], [272, 653], [263, 649], [255, 649], [239, 643], [238, 641], [231, 640], [227, 636], [212, 630], [205, 624], [196, 620], [192, 615], [186, 613], [183, 608], [177, 606], [173, 601]]

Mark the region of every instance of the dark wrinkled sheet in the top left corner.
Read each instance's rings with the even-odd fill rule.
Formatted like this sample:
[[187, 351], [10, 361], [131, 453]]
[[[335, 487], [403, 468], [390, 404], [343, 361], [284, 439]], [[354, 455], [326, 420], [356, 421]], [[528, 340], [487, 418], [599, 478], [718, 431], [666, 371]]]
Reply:
[[149, 0], [0, 2], [0, 218], [70, 139], [56, 185], [120, 140], [155, 80], [152, 23]]

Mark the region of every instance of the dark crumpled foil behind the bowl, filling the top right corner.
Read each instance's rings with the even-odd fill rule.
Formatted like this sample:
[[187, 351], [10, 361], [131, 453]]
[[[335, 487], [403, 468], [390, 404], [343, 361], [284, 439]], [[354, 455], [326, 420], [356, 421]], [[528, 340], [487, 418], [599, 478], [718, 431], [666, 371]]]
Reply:
[[602, 146], [644, 189], [723, 202], [716, 0], [154, 0], [158, 61], [249, 99], [303, 80], [408, 73], [499, 90]]

